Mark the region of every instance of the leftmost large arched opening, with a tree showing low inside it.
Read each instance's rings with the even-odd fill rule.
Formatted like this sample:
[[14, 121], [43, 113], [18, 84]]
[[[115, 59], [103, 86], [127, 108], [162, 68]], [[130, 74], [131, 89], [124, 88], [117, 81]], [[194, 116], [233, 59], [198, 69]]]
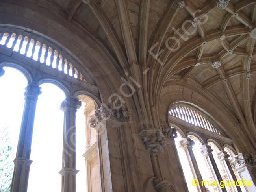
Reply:
[[28, 80], [16, 68], [3, 69], [5, 73], [0, 77], [0, 191], [9, 191]]

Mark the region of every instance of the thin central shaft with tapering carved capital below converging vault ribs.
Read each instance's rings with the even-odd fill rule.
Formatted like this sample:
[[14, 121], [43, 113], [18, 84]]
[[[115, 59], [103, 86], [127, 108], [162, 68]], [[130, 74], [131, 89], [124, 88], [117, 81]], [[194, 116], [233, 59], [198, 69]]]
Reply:
[[146, 150], [150, 154], [152, 168], [154, 172], [154, 188], [157, 192], [176, 191], [171, 183], [162, 177], [157, 154], [165, 146], [165, 136], [160, 129], [145, 129], [141, 133], [141, 138], [145, 144]]

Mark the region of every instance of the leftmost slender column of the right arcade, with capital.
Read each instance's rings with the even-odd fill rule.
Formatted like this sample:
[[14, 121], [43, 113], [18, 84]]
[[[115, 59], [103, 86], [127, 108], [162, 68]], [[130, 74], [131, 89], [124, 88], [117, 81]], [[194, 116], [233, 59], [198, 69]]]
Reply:
[[200, 170], [192, 150], [193, 145], [195, 145], [195, 142], [190, 138], [184, 138], [180, 141], [180, 147], [183, 148], [186, 152], [187, 160], [193, 173], [193, 177], [199, 182], [199, 185], [197, 186], [198, 191], [206, 192], [205, 186], [202, 186], [202, 175], [200, 174]]

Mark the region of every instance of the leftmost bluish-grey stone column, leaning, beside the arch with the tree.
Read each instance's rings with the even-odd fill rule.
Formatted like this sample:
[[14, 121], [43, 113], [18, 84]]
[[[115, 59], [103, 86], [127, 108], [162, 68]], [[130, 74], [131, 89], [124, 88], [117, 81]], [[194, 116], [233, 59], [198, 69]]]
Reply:
[[31, 143], [35, 119], [35, 108], [38, 95], [41, 94], [39, 85], [29, 83], [26, 87], [25, 104], [20, 126], [19, 142], [16, 158], [13, 161], [14, 171], [11, 183], [11, 192], [26, 192], [28, 188], [28, 175], [30, 170]]

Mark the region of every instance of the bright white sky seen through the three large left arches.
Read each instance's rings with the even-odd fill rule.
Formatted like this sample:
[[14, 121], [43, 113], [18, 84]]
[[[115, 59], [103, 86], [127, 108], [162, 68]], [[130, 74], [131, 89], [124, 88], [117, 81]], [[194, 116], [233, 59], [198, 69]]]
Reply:
[[[0, 78], [0, 126], [9, 126], [16, 153], [27, 81], [16, 69], [4, 67], [4, 70], [5, 74]], [[59, 106], [65, 94], [49, 83], [42, 84], [41, 91], [35, 113], [28, 192], [61, 192], [61, 175], [58, 172], [62, 166], [64, 112], [59, 110]], [[82, 157], [86, 133], [84, 104], [76, 113], [76, 169], [80, 170], [77, 192], [86, 192], [86, 166]]]

